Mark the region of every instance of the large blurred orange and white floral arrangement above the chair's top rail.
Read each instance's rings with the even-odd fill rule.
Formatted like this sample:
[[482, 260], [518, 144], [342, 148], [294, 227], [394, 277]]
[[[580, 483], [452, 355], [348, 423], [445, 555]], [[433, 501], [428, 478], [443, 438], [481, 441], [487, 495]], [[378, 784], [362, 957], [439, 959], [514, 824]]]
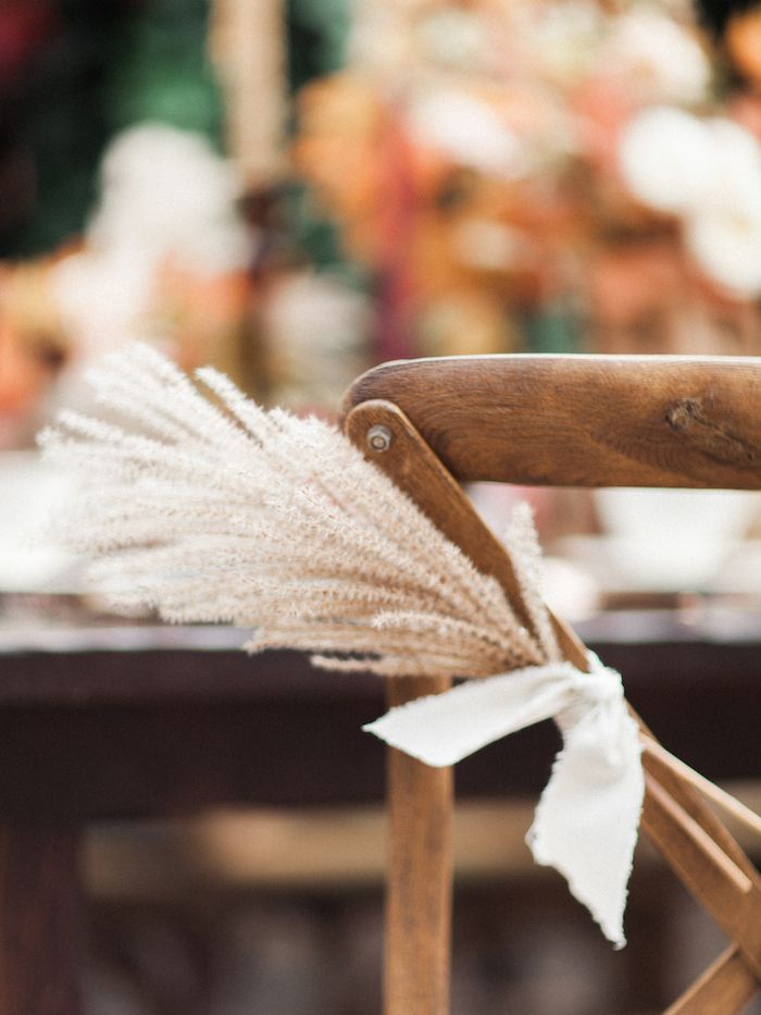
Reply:
[[[634, 245], [668, 249], [685, 302], [709, 315], [761, 293], [759, 144], [687, 3], [364, 0], [346, 70], [309, 86], [300, 112], [297, 165], [377, 272], [384, 358], [515, 348], [537, 320], [541, 348], [567, 346], [549, 321], [579, 313], [604, 349], [621, 300], [597, 298], [597, 264]], [[721, 200], [696, 172], [701, 132], [701, 158], [736, 166]], [[684, 165], [687, 190], [703, 181], [689, 210], [653, 191], [648, 162], [672, 189]]]

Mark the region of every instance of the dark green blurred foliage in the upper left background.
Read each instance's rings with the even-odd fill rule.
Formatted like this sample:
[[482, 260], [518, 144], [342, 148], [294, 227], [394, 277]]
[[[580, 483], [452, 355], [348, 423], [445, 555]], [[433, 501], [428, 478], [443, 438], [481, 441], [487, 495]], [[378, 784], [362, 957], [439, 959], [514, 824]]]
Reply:
[[[349, 4], [287, 0], [292, 90], [340, 66]], [[18, 145], [34, 164], [34, 207], [0, 235], [0, 257], [33, 257], [82, 232], [97, 198], [103, 148], [118, 131], [159, 121], [221, 144], [224, 110], [207, 53], [209, 0], [59, 0], [57, 7], [60, 30], [14, 111]], [[334, 226], [301, 191], [288, 203], [296, 244], [319, 265], [340, 263]]]

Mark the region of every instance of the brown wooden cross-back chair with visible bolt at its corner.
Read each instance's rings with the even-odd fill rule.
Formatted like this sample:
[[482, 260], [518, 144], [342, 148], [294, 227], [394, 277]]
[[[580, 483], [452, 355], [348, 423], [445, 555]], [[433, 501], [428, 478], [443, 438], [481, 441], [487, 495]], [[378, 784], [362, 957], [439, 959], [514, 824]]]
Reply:
[[[462, 357], [371, 370], [347, 393], [344, 425], [520, 607], [510, 559], [459, 482], [760, 488], [759, 406], [761, 359]], [[557, 630], [585, 669], [575, 634], [560, 620]], [[389, 703], [447, 686], [435, 673], [389, 681]], [[732, 942], [668, 1015], [732, 1015], [761, 989], [761, 879], [669, 756], [645, 743], [643, 829]], [[388, 805], [385, 1012], [445, 1015], [451, 770], [390, 750]]]

